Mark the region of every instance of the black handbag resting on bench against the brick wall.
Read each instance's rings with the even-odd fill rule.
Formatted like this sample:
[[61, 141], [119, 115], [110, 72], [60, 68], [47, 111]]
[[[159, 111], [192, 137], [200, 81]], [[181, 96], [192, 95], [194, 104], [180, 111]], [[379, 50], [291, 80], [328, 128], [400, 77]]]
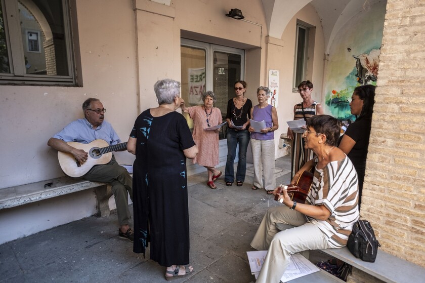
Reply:
[[380, 247], [369, 221], [359, 220], [354, 223], [353, 231], [348, 237], [347, 248], [363, 261], [375, 262]]

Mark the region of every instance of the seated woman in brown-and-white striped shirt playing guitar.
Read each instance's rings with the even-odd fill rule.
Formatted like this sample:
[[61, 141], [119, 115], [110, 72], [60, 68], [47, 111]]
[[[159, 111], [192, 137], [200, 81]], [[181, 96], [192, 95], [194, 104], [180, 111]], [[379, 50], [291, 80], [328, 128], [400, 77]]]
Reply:
[[347, 245], [359, 219], [359, 183], [350, 159], [336, 147], [339, 129], [338, 120], [329, 115], [307, 121], [303, 138], [317, 157], [295, 174], [291, 184], [311, 169], [313, 183], [305, 204], [297, 204], [284, 190], [279, 197], [284, 206], [271, 208], [264, 216], [251, 242], [254, 249], [268, 250], [257, 283], [279, 282], [292, 254]]

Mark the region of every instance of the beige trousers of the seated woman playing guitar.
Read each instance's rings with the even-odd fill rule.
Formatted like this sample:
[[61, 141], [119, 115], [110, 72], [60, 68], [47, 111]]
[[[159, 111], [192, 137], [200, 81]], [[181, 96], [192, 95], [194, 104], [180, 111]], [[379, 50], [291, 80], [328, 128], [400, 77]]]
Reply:
[[[278, 227], [285, 230], [280, 231]], [[268, 250], [256, 283], [279, 283], [292, 254], [329, 248], [325, 234], [316, 225], [307, 222], [302, 213], [286, 206], [267, 211], [251, 247]]]

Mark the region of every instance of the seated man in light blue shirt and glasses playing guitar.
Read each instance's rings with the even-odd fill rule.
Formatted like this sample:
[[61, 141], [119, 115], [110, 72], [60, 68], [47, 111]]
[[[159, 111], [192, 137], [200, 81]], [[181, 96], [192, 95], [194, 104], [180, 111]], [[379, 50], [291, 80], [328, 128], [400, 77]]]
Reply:
[[[104, 121], [105, 111], [103, 104], [97, 98], [89, 98], [82, 104], [83, 119], [77, 119], [68, 124], [62, 131], [49, 139], [48, 145], [64, 153], [72, 154], [78, 166], [84, 166], [90, 158], [88, 152], [75, 148], [67, 142], [88, 144], [96, 139], [103, 139], [109, 145], [115, 145], [120, 141], [111, 124]], [[121, 150], [126, 149], [123, 147]], [[118, 165], [115, 158], [104, 165], [95, 165], [82, 178], [94, 181], [110, 183], [115, 196], [116, 210], [120, 228], [118, 235], [133, 241], [134, 231], [129, 226], [131, 214], [129, 211], [128, 194], [133, 199], [133, 180], [129, 172]]]

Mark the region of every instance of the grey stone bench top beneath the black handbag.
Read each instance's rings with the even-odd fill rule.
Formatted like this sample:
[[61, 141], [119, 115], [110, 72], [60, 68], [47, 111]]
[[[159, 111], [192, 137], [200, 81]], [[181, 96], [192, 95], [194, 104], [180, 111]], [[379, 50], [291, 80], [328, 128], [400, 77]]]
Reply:
[[425, 282], [425, 268], [378, 249], [375, 262], [356, 258], [347, 247], [321, 252], [342, 260], [379, 280], [391, 283]]

